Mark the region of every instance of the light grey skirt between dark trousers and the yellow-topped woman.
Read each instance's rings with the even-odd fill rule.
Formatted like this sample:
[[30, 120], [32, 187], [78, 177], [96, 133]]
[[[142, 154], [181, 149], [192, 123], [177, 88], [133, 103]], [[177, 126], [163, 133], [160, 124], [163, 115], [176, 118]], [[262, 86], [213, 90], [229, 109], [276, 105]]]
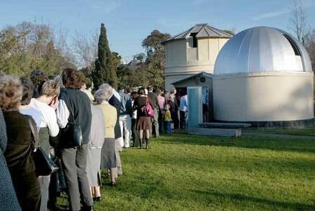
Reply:
[[86, 172], [90, 186], [101, 185], [101, 148], [87, 149]]

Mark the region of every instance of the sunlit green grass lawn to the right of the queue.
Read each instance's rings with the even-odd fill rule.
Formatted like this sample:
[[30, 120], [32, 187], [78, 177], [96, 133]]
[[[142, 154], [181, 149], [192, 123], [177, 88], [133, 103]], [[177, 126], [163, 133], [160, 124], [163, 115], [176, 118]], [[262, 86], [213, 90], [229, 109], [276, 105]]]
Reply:
[[104, 177], [94, 210], [315, 209], [314, 139], [174, 134], [121, 158], [118, 186]]

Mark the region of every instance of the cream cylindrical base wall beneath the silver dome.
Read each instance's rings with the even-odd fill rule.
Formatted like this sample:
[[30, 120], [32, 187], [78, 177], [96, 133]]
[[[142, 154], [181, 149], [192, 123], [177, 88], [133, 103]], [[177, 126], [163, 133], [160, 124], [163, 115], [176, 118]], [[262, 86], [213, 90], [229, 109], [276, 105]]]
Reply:
[[213, 84], [218, 121], [286, 125], [314, 118], [312, 72], [215, 75]]

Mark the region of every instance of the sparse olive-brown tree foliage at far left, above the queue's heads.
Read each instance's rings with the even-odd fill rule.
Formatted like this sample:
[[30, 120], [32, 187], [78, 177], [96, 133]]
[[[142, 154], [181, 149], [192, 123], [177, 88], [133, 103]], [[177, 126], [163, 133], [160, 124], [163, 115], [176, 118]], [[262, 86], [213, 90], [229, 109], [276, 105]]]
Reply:
[[22, 22], [0, 31], [1, 72], [27, 76], [34, 69], [48, 75], [59, 74], [74, 66], [74, 59], [64, 44], [64, 34], [50, 25]]

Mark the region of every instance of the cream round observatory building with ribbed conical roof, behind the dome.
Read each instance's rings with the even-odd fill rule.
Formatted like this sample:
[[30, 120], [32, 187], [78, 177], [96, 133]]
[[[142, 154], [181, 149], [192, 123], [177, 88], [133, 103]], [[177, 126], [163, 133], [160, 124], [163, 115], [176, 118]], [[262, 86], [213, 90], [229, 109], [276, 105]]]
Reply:
[[195, 74], [214, 72], [216, 57], [232, 37], [223, 30], [207, 24], [197, 24], [181, 34], [163, 41], [165, 45], [165, 88]]

